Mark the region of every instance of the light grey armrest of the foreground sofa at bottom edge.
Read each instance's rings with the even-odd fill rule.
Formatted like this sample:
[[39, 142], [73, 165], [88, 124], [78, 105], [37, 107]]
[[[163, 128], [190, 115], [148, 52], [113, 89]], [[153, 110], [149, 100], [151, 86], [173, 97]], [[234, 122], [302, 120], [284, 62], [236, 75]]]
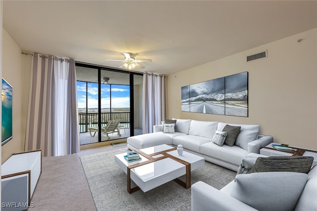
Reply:
[[192, 185], [192, 211], [256, 211], [247, 204], [199, 181]]

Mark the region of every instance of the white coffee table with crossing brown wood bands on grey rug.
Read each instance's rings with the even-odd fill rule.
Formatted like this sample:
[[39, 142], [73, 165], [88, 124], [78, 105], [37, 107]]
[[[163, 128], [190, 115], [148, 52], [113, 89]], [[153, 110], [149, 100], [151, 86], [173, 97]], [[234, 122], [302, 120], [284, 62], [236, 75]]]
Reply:
[[[205, 159], [189, 152], [181, 156], [177, 150], [166, 144], [149, 147], [139, 152], [141, 161], [127, 162], [121, 153], [115, 155], [115, 163], [127, 174], [127, 190], [129, 193], [141, 189], [147, 192], [171, 180], [176, 181], [185, 188], [191, 186], [191, 171], [203, 167]], [[178, 177], [186, 174], [186, 182]], [[138, 187], [131, 188], [131, 179]]]

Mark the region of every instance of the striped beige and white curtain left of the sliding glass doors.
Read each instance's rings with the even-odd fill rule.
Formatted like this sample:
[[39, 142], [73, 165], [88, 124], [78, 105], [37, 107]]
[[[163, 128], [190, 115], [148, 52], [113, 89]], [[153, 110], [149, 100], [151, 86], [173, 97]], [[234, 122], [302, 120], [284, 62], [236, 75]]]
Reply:
[[75, 62], [34, 53], [24, 150], [79, 152]]

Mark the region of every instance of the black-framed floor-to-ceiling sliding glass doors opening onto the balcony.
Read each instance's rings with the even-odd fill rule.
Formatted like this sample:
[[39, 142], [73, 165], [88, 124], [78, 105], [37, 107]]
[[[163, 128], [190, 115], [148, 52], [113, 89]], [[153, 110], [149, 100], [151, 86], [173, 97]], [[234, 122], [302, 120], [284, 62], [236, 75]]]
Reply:
[[78, 63], [76, 77], [81, 145], [142, 134], [143, 74]]

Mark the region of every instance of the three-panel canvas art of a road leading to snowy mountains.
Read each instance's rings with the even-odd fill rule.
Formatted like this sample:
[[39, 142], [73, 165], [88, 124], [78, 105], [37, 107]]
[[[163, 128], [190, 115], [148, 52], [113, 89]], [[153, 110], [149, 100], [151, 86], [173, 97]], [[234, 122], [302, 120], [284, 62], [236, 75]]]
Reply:
[[248, 117], [248, 72], [181, 89], [182, 111]]

